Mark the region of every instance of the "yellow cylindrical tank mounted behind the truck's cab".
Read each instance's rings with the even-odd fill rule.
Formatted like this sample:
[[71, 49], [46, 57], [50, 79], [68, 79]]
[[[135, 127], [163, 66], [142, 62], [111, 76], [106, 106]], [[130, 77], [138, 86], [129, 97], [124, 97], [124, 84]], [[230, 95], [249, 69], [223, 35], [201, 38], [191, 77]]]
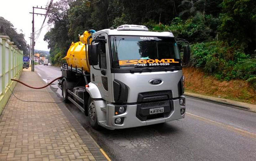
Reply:
[[[76, 43], [72, 42], [67, 55], [63, 58], [66, 59], [69, 66], [72, 65], [73, 68], [83, 68], [84, 71], [90, 72], [87, 38], [94, 32], [94, 30], [85, 31], [83, 35], [79, 37], [80, 41]], [[89, 41], [91, 43], [92, 39]]]

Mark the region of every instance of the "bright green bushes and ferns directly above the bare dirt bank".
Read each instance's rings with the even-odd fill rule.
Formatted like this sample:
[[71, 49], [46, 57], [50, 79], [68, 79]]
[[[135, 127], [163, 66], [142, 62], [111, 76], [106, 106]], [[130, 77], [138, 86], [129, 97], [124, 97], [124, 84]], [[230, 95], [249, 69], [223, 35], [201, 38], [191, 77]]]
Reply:
[[243, 79], [255, 84], [256, 59], [222, 41], [191, 45], [191, 65], [218, 79]]

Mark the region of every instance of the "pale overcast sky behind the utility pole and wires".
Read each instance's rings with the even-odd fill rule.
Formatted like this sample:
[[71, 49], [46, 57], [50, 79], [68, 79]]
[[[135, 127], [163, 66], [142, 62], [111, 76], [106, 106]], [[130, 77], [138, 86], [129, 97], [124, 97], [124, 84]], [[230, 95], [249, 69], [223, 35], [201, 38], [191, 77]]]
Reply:
[[[0, 16], [4, 19], [10, 21], [14, 28], [16, 28], [16, 31], [18, 33], [23, 33], [25, 35], [25, 40], [27, 41], [27, 44], [30, 45], [30, 33], [32, 33], [32, 15], [29, 12], [33, 12], [33, 6], [45, 8], [47, 2], [49, 3], [50, 0], [4, 0], [1, 2], [0, 9]], [[53, 3], [57, 0], [53, 0]], [[45, 14], [45, 9], [34, 9], [35, 13], [41, 13]], [[46, 18], [46, 21], [44, 23], [44, 27], [39, 35], [39, 38], [35, 42], [35, 49], [36, 50], [44, 50], [49, 51], [47, 47], [46, 41], [44, 41], [44, 35], [47, 33], [47, 31], [50, 29], [50, 26], [47, 24], [48, 18]], [[40, 27], [42, 26], [42, 23], [44, 21], [44, 16], [41, 15], [35, 15], [34, 16], [34, 27], [35, 31], [38, 31]], [[38, 33], [38, 32], [36, 32]], [[35, 33], [35, 38], [37, 34]]]

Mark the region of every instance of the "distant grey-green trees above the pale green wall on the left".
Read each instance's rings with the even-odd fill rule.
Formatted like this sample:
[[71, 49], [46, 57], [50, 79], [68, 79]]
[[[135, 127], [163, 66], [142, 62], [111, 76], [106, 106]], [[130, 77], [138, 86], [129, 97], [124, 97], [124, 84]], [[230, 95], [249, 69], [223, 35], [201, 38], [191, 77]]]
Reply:
[[26, 40], [24, 39], [24, 34], [22, 31], [17, 33], [16, 28], [14, 28], [13, 24], [5, 20], [3, 17], [0, 17], [0, 35], [9, 36], [10, 40], [14, 42], [20, 50], [23, 51], [24, 56], [29, 56], [29, 46], [27, 45]]

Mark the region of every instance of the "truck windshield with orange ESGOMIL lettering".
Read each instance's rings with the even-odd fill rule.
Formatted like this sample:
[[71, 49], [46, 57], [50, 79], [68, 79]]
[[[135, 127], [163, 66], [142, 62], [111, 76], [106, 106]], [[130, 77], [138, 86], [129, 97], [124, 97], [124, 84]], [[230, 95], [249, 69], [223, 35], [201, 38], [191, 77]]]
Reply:
[[180, 66], [174, 38], [154, 36], [110, 36], [113, 68], [122, 66]]

